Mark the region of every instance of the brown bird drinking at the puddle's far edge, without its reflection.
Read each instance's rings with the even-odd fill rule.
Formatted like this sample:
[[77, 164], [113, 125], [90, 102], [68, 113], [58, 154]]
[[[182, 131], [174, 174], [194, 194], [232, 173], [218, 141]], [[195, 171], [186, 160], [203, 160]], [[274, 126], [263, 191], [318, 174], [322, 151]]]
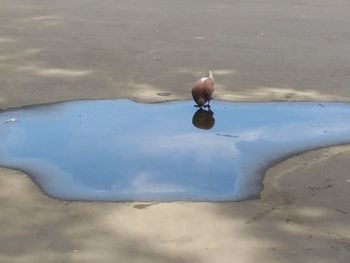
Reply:
[[[211, 70], [209, 70], [208, 77], [200, 78], [192, 88], [192, 97], [197, 105], [195, 107], [208, 107], [210, 108], [209, 102], [212, 99], [214, 93], [214, 78]], [[207, 103], [207, 104], [206, 104]]]

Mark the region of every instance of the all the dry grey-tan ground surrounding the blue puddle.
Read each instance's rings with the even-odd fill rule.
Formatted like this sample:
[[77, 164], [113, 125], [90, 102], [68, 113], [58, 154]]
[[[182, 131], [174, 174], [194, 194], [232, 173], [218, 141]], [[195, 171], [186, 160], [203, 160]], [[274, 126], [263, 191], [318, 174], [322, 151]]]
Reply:
[[[350, 3], [0, 0], [0, 108], [81, 98], [349, 101]], [[350, 147], [239, 203], [81, 203], [0, 170], [0, 262], [350, 262]]]

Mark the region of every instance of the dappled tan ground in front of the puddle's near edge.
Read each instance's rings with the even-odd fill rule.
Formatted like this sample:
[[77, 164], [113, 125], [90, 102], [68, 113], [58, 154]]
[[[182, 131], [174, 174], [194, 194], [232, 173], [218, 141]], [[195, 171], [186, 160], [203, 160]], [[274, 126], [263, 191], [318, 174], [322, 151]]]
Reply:
[[345, 263], [349, 158], [348, 146], [294, 157], [238, 203], [64, 202], [3, 169], [0, 260]]

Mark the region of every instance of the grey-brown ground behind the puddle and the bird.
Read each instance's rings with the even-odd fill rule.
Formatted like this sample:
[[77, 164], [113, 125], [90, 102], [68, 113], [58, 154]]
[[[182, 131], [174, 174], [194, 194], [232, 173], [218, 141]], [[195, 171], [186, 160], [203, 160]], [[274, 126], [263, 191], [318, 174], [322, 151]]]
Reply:
[[350, 96], [346, 0], [2, 0], [1, 6], [2, 109], [87, 98], [188, 99], [209, 69], [221, 99]]

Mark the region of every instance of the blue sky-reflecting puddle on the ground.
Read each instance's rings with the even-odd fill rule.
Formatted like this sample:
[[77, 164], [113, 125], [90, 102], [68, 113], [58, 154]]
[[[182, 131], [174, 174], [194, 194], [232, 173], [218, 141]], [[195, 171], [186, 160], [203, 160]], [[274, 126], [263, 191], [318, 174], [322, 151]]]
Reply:
[[0, 113], [0, 165], [64, 200], [244, 200], [259, 195], [272, 163], [350, 142], [349, 116], [341, 103], [29, 107]]

